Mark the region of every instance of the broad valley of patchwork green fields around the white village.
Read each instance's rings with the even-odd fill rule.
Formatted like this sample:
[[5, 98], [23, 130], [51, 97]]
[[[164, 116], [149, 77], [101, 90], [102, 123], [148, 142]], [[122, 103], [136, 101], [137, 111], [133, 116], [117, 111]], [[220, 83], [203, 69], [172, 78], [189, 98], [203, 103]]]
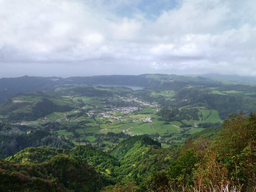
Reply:
[[[161, 76], [146, 78], [159, 80]], [[249, 101], [254, 97], [251, 88], [235, 88], [189, 84], [178, 89], [144, 90], [114, 84], [58, 85], [53, 93], [16, 95], [11, 98], [11, 105], [6, 105], [9, 108], [1, 108], [0, 119], [40, 129], [49, 127], [48, 131], [75, 145], [90, 144], [102, 150], [110, 149], [127, 136], [143, 134], [168, 147], [204, 128], [218, 127], [232, 109], [239, 112], [243, 105], [236, 105], [238, 96], [247, 95]], [[221, 102], [228, 102], [229, 111]], [[165, 109], [168, 114], [160, 115], [159, 111]]]

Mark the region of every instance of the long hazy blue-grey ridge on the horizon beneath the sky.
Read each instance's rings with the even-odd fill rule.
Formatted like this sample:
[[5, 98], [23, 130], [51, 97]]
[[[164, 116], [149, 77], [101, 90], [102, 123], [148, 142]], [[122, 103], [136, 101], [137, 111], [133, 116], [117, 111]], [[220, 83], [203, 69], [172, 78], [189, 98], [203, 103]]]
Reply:
[[205, 84], [207, 82], [212, 85], [220, 85], [220, 83], [216, 83], [213, 80], [207, 80], [206, 78], [202, 79], [166, 74], [144, 74], [139, 76], [111, 75], [70, 78], [22, 76], [18, 78], [0, 79], [0, 103], [20, 92], [38, 90], [53, 92], [54, 86], [65, 84], [84, 83], [87, 85], [130, 85], [155, 88], [173, 87], [173, 89], [177, 89], [178, 87], [183, 87], [191, 82], [196, 84]]

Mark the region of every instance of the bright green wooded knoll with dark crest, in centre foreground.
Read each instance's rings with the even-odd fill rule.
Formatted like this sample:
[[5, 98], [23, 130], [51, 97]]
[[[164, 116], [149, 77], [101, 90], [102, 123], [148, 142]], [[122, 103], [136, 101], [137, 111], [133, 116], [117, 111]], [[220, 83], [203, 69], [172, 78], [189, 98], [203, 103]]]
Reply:
[[119, 158], [121, 164], [114, 171], [120, 183], [141, 182], [156, 170], [162, 170], [176, 159], [177, 146], [163, 149], [161, 143], [148, 136], [132, 136], [120, 142], [110, 154]]

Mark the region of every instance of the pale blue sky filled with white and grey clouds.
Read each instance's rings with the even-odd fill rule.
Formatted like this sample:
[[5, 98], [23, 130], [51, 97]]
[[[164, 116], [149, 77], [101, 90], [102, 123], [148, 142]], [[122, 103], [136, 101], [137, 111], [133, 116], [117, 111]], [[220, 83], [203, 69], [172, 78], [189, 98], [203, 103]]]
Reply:
[[0, 0], [0, 78], [256, 76], [256, 0]]

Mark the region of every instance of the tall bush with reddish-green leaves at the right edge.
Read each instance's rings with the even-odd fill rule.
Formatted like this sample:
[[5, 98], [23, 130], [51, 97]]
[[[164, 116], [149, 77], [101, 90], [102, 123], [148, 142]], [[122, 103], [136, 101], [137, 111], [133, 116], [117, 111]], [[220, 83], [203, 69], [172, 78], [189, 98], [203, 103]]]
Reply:
[[256, 171], [256, 114], [233, 114], [223, 123], [219, 158], [234, 182], [250, 183]]

